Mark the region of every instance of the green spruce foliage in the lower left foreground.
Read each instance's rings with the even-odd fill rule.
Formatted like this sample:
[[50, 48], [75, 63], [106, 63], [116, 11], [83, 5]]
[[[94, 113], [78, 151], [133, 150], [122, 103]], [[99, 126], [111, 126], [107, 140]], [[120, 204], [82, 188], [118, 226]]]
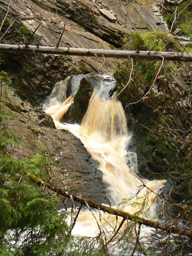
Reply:
[[14, 115], [7, 107], [11, 80], [3, 71], [0, 86], [0, 255], [59, 255], [66, 249], [68, 212], [58, 214], [58, 198], [27, 175], [47, 180], [51, 162], [43, 150], [25, 161], [11, 156], [8, 148], [19, 147], [22, 138], [6, 122]]

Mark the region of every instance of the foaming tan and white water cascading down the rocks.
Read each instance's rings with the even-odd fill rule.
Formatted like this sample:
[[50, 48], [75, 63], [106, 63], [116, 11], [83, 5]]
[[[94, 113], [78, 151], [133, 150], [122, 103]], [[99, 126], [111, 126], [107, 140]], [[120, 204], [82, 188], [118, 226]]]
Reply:
[[[112, 81], [112, 85], [114, 85], [114, 81]], [[121, 209], [132, 214], [139, 212], [142, 204], [144, 205], [143, 211], [147, 212], [150, 217], [154, 212], [155, 204], [153, 202], [156, 193], [166, 181], [148, 181], [137, 177], [136, 154], [126, 150], [130, 145], [132, 135], [127, 129], [124, 109], [120, 101], [112, 99], [113, 87], [109, 89], [107, 97], [105, 83], [94, 90], [81, 125], [60, 123], [60, 119], [73, 103], [74, 95], [58, 104], [57, 94], [52, 93], [49, 104], [44, 106], [44, 108], [47, 106], [45, 112], [52, 116], [57, 129], [66, 129], [78, 137], [98, 162], [98, 169], [102, 172], [103, 181], [107, 184], [107, 195], [110, 202], [116, 205], [126, 198], [127, 200], [124, 200], [126, 203], [121, 204]], [[62, 90], [60, 91], [58, 88], [55, 91], [59, 94], [62, 93]], [[64, 93], [66, 93], [66, 89], [64, 89]], [[61, 95], [59, 96], [62, 98]], [[130, 163], [129, 166], [127, 161]], [[134, 207], [131, 205], [132, 202], [136, 202]], [[119, 221], [121, 221], [120, 218]], [[102, 225], [107, 232], [113, 230], [115, 223], [115, 216], [107, 214], [102, 216]], [[81, 229], [79, 229], [79, 225]], [[84, 227], [84, 233], [82, 227]], [[91, 212], [85, 211], [79, 215], [73, 234], [95, 236], [97, 229]]]

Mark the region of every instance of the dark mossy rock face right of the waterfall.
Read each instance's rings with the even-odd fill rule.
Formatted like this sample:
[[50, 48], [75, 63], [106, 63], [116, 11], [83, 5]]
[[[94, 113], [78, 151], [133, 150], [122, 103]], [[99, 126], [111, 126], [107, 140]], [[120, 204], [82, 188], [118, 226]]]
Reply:
[[[162, 40], [167, 51], [174, 51], [172, 47], [177, 47], [178, 43], [169, 36], [163, 38], [162, 35]], [[189, 175], [192, 153], [192, 66], [191, 63], [165, 62], [153, 84], [160, 63], [153, 61], [151, 64], [147, 62], [147, 66], [145, 64], [145, 61], [138, 60], [129, 86], [119, 95], [124, 107], [128, 105], [127, 119], [134, 133], [139, 171], [148, 179], [166, 178], [172, 185], [171, 196], [175, 201], [191, 205], [191, 199], [185, 195], [191, 194], [192, 188]], [[130, 70], [130, 61], [119, 64], [115, 73], [119, 91], [129, 80]], [[145, 96], [149, 88], [150, 92]]]

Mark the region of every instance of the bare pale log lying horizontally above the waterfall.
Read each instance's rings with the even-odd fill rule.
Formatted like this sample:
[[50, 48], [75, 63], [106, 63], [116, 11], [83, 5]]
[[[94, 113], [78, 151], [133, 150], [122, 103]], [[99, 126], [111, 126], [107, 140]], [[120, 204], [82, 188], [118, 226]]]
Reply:
[[145, 59], [145, 60], [173, 60], [192, 62], [192, 53], [188, 52], [152, 52], [152, 51], [122, 51], [104, 49], [84, 49], [69, 47], [34, 46], [18, 44], [0, 44], [0, 51], [9, 52], [35, 52], [49, 54], [63, 54], [89, 57], [108, 57], [121, 59]]

